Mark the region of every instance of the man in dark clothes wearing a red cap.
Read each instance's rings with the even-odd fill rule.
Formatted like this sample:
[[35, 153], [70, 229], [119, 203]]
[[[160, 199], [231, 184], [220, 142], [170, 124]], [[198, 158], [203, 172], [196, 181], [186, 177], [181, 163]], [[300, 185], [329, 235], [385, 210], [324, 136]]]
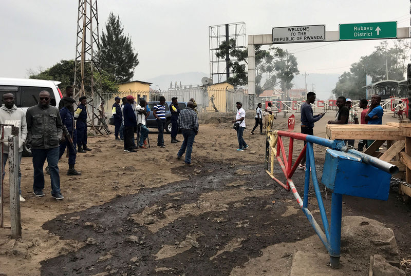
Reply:
[[124, 116], [124, 151], [125, 152], [136, 152], [135, 146], [133, 145], [134, 140], [134, 128], [137, 127], [136, 114], [134, 113], [132, 105], [134, 104], [134, 99], [132, 95], [128, 95], [127, 102], [123, 107]]

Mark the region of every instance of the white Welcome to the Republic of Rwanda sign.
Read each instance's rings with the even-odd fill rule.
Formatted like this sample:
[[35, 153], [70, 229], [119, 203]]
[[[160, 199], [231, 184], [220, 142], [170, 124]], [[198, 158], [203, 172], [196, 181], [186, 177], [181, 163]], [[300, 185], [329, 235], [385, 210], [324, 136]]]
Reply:
[[325, 40], [325, 25], [273, 28], [273, 44], [317, 42]]

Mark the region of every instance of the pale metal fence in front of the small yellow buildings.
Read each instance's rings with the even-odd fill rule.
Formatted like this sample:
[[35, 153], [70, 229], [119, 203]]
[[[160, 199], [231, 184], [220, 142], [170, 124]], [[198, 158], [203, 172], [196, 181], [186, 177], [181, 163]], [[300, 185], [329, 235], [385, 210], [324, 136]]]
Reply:
[[[160, 96], [164, 96], [166, 101], [171, 101], [172, 97], [177, 97], [179, 102], [188, 102], [191, 98], [197, 103], [198, 112], [235, 112], [236, 102], [241, 102], [244, 109], [255, 109], [257, 100], [255, 95], [249, 95], [239, 90], [227, 89], [207, 89], [203, 87], [194, 87], [188, 89], [173, 89], [167, 91], [150, 90], [150, 91], [129, 91], [113, 93], [101, 93], [105, 101], [104, 109], [106, 114], [111, 113], [111, 107], [114, 104], [116, 96], [125, 97], [132, 95], [136, 98], [144, 97], [148, 102], [159, 101]], [[94, 99], [94, 105], [100, 104], [100, 96]]]

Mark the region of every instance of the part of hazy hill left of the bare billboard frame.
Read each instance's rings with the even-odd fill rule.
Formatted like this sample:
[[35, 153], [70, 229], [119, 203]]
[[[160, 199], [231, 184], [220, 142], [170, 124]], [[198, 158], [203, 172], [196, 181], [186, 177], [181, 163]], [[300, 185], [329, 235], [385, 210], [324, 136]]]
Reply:
[[153, 78], [148, 78], [148, 80], [145, 80], [146, 82], [153, 83], [151, 85], [151, 88], [157, 89], [156, 86], [158, 86], [161, 90], [167, 90], [170, 88], [170, 82], [173, 83], [173, 88], [175, 83], [177, 82], [177, 85], [181, 85], [184, 87], [184, 85], [193, 85], [197, 86], [201, 84], [201, 78], [204, 76], [209, 77], [209, 73], [202, 73], [202, 72], [187, 72], [187, 73], [179, 73], [179, 74], [174, 74], [174, 75], [161, 75], [161, 76], [156, 76]]

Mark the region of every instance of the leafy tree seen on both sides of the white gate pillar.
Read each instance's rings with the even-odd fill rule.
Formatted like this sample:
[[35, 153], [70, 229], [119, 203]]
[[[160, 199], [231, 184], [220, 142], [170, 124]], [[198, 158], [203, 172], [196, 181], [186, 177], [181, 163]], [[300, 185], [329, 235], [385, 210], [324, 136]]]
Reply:
[[[226, 58], [227, 53], [237, 61], [229, 63], [233, 76], [227, 81], [233, 85], [246, 85], [248, 77], [246, 72], [248, 50], [240, 50], [236, 47], [235, 40], [223, 41], [216, 53], [218, 58]], [[279, 47], [270, 47], [269, 50], [261, 49], [261, 45], [255, 46], [255, 93], [261, 94], [264, 90], [273, 89], [281, 84], [282, 89], [290, 89], [291, 81], [298, 73], [297, 59]]]

